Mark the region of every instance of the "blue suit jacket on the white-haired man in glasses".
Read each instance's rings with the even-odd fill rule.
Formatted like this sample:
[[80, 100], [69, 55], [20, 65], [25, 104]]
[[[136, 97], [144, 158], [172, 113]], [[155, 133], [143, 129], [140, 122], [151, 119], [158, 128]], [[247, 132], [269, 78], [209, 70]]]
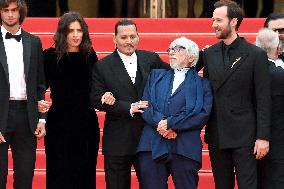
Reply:
[[[191, 69], [194, 70], [188, 72], [191, 71], [198, 77], [198, 85], [202, 86], [197, 87], [201, 91], [199, 94], [203, 95], [199, 98], [202, 99], [202, 103], [200, 103], [198, 113], [192, 115], [186, 111], [190, 98], [196, 97], [196, 94], [191, 94], [192, 91], [189, 91], [188, 86], [192, 85], [192, 80], [188, 77], [189, 74], [171, 95], [173, 70], [152, 70], [143, 94], [143, 100], [149, 101], [149, 107], [145, 109], [142, 115], [145, 120], [145, 127], [138, 152], [150, 151], [153, 159], [175, 153], [201, 162], [200, 131], [209, 118], [212, 93], [208, 80], [199, 77], [195, 68]], [[162, 138], [157, 143], [156, 139], [161, 138], [156, 131], [157, 125], [164, 118], [167, 119], [168, 128], [177, 132], [177, 137], [174, 140]], [[153, 153], [154, 148], [155, 153]]]

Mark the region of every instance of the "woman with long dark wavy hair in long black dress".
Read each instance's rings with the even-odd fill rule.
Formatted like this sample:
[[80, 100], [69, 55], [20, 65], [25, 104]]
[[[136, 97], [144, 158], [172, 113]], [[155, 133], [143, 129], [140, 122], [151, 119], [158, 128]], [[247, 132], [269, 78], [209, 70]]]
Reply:
[[99, 127], [89, 92], [97, 55], [80, 14], [60, 18], [54, 45], [44, 51], [52, 99], [46, 120], [46, 188], [94, 189]]

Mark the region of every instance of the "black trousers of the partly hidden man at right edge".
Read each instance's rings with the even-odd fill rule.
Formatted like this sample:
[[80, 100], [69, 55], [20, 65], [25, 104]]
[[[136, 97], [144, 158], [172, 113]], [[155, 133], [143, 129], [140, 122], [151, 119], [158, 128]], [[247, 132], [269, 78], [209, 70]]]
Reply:
[[284, 159], [258, 161], [258, 189], [284, 188]]

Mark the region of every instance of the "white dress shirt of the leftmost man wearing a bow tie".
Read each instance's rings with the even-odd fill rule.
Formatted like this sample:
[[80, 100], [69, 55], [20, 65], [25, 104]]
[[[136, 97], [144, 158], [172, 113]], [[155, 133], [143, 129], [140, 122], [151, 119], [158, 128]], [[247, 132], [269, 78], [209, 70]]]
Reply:
[[[24, 74], [24, 59], [23, 59], [23, 43], [14, 38], [5, 39], [7, 30], [1, 26], [2, 38], [5, 46], [9, 84], [10, 84], [10, 99], [26, 100], [26, 81]], [[21, 28], [16, 35], [21, 34]]]

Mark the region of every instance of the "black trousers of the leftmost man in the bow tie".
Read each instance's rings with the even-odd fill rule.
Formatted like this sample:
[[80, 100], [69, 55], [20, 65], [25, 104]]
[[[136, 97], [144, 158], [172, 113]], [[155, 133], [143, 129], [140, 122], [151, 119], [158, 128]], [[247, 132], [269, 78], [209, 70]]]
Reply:
[[10, 101], [8, 125], [0, 144], [0, 188], [6, 188], [8, 148], [13, 154], [14, 188], [31, 189], [36, 159], [36, 137], [31, 132], [26, 101]]

